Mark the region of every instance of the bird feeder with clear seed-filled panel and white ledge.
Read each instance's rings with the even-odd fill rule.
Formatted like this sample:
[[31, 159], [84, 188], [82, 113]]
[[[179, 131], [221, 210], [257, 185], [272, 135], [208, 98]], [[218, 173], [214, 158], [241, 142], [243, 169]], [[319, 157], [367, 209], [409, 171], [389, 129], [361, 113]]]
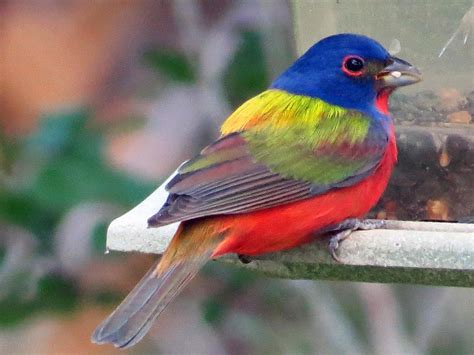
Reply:
[[[403, 11], [396, 3], [394, 11]], [[370, 9], [354, 12], [354, 6]], [[416, 21], [403, 28], [391, 26], [390, 17], [367, 18], [366, 14], [376, 12], [377, 6], [377, 2], [357, 0], [318, 4], [294, 1], [293, 13], [300, 53], [327, 35], [358, 32], [392, 47], [393, 52], [401, 50], [404, 57], [422, 68], [424, 83], [407, 93], [395, 94], [391, 102], [399, 164], [370, 214], [372, 218], [390, 219], [386, 227], [354, 232], [338, 249], [342, 263], [330, 257], [327, 241], [262, 255], [248, 264], [236, 256], [222, 261], [289, 279], [474, 287], [474, 224], [465, 223], [474, 219], [472, 41], [463, 44], [462, 38], [456, 40], [454, 36], [450, 46], [443, 48], [449, 38], [445, 38], [445, 29], [437, 26], [438, 21]], [[387, 4], [383, 6], [386, 11]], [[406, 11], [417, 11], [416, 6], [424, 11], [422, 4], [412, 4]], [[314, 21], [316, 14], [318, 21]], [[440, 16], [442, 11], [433, 16], [436, 14]], [[354, 16], [359, 15], [364, 18], [356, 21]], [[394, 28], [400, 32], [393, 33]], [[422, 33], [431, 35], [420, 41]], [[470, 51], [466, 45], [471, 46]], [[437, 46], [444, 49], [441, 57], [439, 51], [434, 51]], [[110, 250], [156, 254], [165, 250], [177, 224], [147, 226], [147, 219], [166, 200], [165, 184], [110, 224]]]

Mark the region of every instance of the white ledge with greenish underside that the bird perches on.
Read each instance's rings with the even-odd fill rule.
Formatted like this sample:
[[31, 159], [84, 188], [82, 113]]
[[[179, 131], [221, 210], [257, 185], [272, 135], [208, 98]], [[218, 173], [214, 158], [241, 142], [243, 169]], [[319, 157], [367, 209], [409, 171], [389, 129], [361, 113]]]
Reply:
[[[110, 224], [108, 249], [155, 254], [166, 249], [178, 224], [147, 225], [167, 198], [165, 185]], [[342, 264], [329, 256], [327, 241], [317, 241], [259, 256], [245, 265], [235, 256], [222, 260], [291, 279], [474, 287], [474, 224], [387, 221], [385, 229], [354, 232], [338, 253]]]

